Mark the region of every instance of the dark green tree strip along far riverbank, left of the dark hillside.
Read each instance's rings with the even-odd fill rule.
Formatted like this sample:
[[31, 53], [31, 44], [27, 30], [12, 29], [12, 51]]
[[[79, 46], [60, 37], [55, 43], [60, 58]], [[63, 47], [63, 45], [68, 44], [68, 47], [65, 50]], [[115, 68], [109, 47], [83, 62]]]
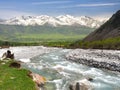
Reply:
[[45, 42], [10, 42], [0, 41], [1, 48], [9, 46], [48, 46], [48, 47], [69, 47], [75, 40], [59, 40], [59, 41], [45, 41]]

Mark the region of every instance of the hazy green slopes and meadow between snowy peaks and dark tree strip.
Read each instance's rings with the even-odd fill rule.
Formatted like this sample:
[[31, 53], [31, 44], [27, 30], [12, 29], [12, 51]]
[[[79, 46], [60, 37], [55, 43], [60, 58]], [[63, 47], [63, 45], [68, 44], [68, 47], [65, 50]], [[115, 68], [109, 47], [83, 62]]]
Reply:
[[41, 42], [82, 39], [94, 28], [85, 26], [58, 26], [49, 25], [0, 25], [0, 40], [14, 42]]

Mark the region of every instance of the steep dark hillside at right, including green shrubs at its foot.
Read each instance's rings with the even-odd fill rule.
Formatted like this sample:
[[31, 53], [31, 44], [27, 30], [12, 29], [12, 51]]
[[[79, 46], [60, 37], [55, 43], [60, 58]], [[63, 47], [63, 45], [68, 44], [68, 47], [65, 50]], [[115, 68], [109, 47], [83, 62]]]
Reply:
[[82, 41], [78, 40], [70, 46], [72, 48], [120, 49], [120, 10]]

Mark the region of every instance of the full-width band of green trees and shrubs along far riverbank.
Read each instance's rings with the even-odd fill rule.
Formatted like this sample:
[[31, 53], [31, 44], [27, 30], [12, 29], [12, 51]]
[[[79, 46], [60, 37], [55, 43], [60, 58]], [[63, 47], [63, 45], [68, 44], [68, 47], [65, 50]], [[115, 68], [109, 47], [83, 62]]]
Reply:
[[108, 38], [99, 41], [76, 41], [71, 40], [56, 40], [45, 42], [9, 42], [0, 41], [1, 47], [6, 46], [47, 46], [47, 47], [63, 47], [63, 48], [83, 48], [83, 49], [120, 49], [120, 37]]

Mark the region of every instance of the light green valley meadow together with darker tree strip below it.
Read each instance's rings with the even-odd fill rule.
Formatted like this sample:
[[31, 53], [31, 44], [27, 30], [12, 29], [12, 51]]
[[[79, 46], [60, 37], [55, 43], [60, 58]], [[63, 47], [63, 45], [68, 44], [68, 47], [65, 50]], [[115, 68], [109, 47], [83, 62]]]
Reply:
[[[30, 35], [30, 36], [29, 36]], [[21, 36], [20, 41], [3, 41], [0, 40], [0, 46], [38, 46], [38, 45], [44, 45], [44, 46], [55, 46], [55, 47], [66, 47], [69, 46], [71, 43], [73, 43], [76, 40], [80, 40], [80, 38], [85, 37], [85, 35], [79, 35], [74, 36], [74, 38], [71, 38], [71, 36], [65, 36], [65, 35], [41, 35], [39, 34], [29, 34], [27, 36]], [[54, 37], [54, 38], [53, 38]]]

